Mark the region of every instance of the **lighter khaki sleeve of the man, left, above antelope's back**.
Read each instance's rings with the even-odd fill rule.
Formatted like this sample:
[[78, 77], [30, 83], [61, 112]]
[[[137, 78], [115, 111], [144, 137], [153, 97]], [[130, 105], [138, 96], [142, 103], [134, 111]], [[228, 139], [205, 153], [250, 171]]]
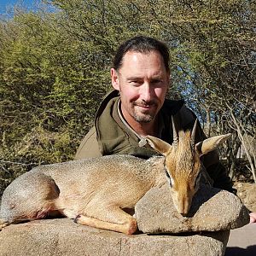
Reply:
[[96, 129], [93, 126], [80, 143], [74, 160], [102, 156], [96, 140]]

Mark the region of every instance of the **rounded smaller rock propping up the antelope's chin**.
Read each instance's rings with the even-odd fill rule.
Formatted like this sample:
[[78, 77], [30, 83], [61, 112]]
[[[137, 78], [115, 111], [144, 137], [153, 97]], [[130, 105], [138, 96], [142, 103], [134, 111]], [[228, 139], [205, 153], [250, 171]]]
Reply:
[[143, 233], [180, 233], [240, 228], [249, 223], [247, 208], [228, 191], [202, 185], [183, 217], [173, 206], [168, 186], [150, 189], [137, 202], [135, 214]]

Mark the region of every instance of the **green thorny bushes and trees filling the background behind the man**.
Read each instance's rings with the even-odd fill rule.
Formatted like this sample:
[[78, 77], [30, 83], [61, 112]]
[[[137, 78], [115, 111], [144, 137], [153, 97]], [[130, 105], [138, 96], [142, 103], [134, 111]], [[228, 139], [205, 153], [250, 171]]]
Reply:
[[52, 0], [3, 16], [0, 191], [32, 166], [73, 159], [111, 88], [114, 50], [139, 34], [170, 47], [170, 97], [186, 100], [208, 136], [232, 132], [230, 177], [242, 144], [256, 181], [255, 14], [250, 0]]

